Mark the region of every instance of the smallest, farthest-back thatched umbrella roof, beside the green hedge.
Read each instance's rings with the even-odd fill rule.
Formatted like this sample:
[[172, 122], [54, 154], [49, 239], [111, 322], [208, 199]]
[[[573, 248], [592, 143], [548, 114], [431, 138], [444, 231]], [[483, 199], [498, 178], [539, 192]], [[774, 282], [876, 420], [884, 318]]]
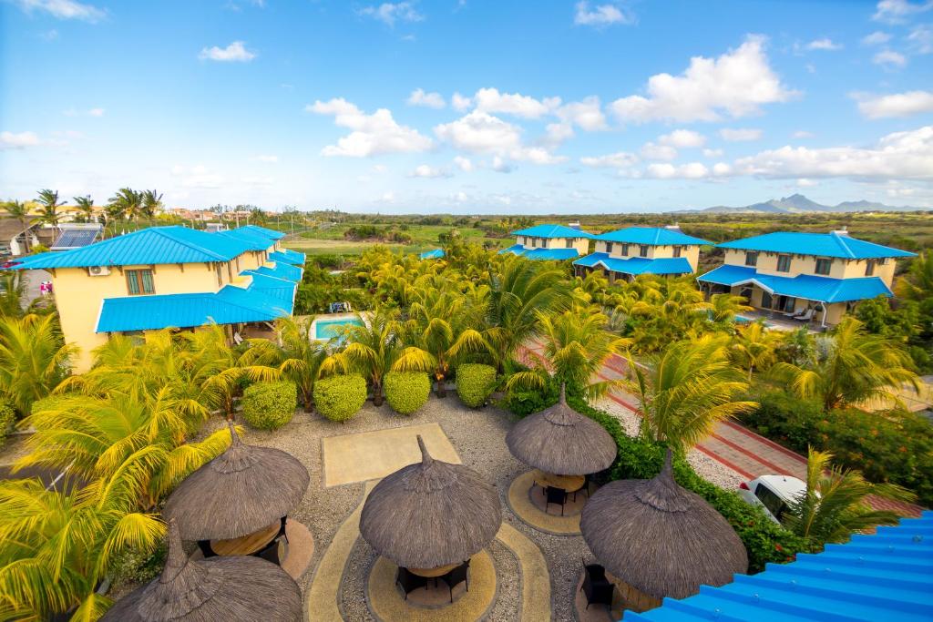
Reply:
[[581, 476], [609, 468], [616, 459], [616, 441], [606, 428], [567, 406], [561, 399], [512, 426], [508, 450], [522, 463], [557, 475]]

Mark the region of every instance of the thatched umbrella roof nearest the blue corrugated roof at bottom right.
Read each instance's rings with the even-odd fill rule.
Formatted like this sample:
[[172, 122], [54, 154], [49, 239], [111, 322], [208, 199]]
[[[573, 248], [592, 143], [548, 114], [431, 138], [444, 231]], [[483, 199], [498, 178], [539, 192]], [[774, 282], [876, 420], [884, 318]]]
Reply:
[[657, 477], [614, 481], [593, 494], [580, 531], [606, 570], [658, 599], [686, 598], [748, 569], [726, 519], [674, 481], [670, 451]]

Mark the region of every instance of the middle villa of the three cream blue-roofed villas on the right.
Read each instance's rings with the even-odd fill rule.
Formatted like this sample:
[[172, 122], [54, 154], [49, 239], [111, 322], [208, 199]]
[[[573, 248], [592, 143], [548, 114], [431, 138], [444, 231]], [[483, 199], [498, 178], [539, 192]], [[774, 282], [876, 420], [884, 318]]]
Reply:
[[605, 270], [609, 283], [618, 278], [631, 281], [639, 274], [691, 274], [697, 269], [700, 246], [713, 243], [689, 236], [676, 225], [622, 228], [593, 240], [595, 252], [575, 261], [574, 272], [582, 276]]

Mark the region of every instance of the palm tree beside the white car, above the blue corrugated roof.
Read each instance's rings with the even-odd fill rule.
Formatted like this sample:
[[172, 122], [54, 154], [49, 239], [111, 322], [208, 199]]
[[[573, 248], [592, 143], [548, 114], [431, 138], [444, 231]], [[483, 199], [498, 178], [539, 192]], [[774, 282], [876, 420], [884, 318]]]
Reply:
[[832, 454], [810, 448], [807, 490], [789, 505], [782, 523], [815, 546], [846, 542], [853, 532], [878, 525], [895, 525], [898, 515], [871, 509], [869, 495], [912, 502], [911, 491], [895, 484], [872, 484], [861, 472], [830, 465]]

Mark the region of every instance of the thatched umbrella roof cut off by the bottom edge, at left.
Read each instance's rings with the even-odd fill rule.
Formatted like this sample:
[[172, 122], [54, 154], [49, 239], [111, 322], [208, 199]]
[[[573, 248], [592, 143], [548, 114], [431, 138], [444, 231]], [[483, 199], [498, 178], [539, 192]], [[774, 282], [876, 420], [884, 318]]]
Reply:
[[301, 591], [284, 570], [254, 557], [191, 561], [170, 521], [160, 577], [117, 601], [102, 622], [294, 622], [300, 615]]

